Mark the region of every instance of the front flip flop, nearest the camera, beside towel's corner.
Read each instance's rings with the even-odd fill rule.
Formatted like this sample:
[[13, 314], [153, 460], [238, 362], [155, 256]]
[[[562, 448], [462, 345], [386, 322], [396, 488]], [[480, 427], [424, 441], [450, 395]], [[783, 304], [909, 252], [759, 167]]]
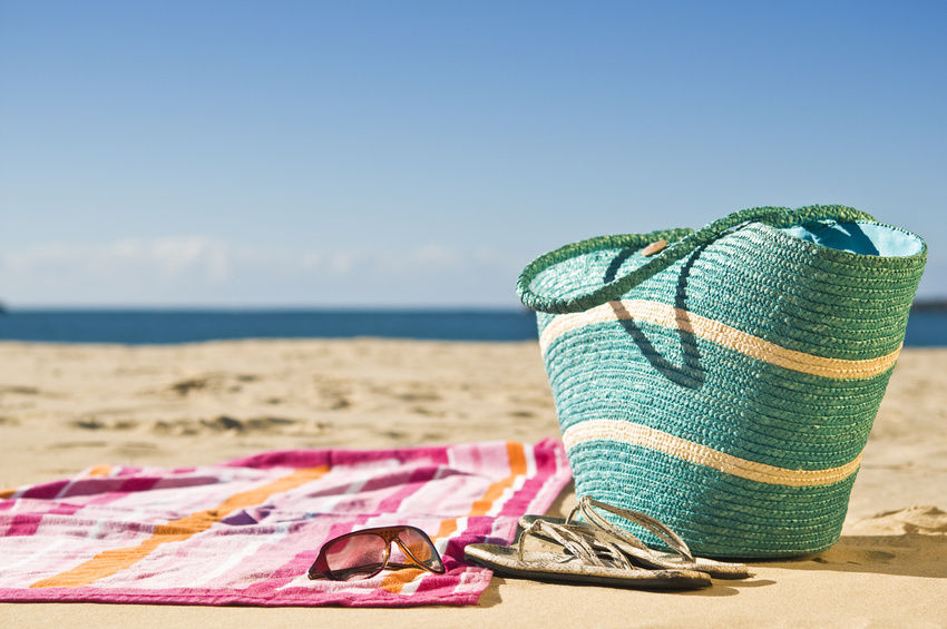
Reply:
[[[711, 584], [707, 574], [695, 570], [651, 570], [634, 566], [613, 544], [573, 529], [537, 520], [523, 530], [516, 547], [468, 544], [463, 556], [499, 574], [537, 581], [655, 590], [686, 590]], [[566, 552], [527, 551], [524, 542], [529, 537], [551, 540]]]

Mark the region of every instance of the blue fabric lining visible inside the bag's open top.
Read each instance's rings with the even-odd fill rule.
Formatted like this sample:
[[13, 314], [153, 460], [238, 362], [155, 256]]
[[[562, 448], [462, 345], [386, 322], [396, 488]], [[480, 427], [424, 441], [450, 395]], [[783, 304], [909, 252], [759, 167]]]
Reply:
[[782, 232], [823, 247], [866, 256], [912, 256], [924, 249], [924, 243], [914, 234], [877, 223], [807, 223]]

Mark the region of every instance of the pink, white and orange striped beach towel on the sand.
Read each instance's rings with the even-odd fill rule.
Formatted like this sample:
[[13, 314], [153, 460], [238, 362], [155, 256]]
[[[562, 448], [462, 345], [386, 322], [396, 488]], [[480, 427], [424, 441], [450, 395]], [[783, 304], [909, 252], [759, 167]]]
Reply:
[[[463, 547], [508, 543], [569, 481], [562, 443], [292, 450], [219, 465], [96, 466], [0, 492], [0, 600], [402, 607], [473, 605], [490, 572]], [[427, 531], [445, 574], [310, 581], [322, 542]]]

